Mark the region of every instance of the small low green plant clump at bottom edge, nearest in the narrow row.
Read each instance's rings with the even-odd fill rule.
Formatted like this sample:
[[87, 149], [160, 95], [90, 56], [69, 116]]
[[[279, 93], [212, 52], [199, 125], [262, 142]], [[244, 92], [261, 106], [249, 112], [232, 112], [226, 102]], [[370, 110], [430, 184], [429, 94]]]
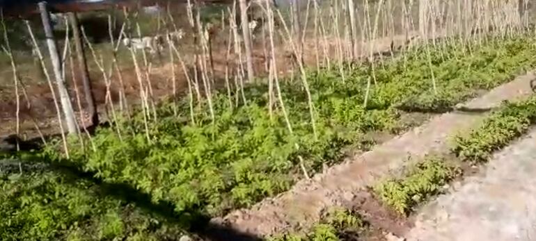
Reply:
[[286, 233], [268, 238], [270, 241], [338, 241], [358, 240], [367, 228], [365, 222], [344, 208], [333, 208], [322, 221], [315, 224], [306, 234]]

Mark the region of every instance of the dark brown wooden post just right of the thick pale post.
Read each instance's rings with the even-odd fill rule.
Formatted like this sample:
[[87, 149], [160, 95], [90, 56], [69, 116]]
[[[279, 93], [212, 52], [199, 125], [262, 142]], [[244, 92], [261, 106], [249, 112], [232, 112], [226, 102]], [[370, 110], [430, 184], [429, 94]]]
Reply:
[[76, 13], [69, 13], [69, 20], [72, 26], [72, 37], [74, 38], [74, 48], [77, 51], [77, 60], [79, 72], [82, 76], [82, 84], [84, 85], [84, 95], [86, 96], [86, 104], [88, 105], [88, 112], [91, 118], [91, 124], [93, 126], [99, 124], [99, 115], [97, 113], [97, 106], [95, 105], [95, 97], [93, 95], [93, 87], [89, 78], [88, 65], [86, 63], [86, 56], [84, 56], [84, 44], [80, 38], [80, 28], [78, 24], [78, 17]]

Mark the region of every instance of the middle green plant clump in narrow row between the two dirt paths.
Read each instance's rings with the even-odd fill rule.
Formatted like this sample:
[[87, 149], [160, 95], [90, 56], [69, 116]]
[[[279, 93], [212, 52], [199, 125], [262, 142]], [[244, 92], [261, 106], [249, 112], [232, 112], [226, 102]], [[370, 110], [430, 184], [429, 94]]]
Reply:
[[441, 192], [443, 185], [461, 174], [461, 169], [446, 160], [429, 156], [409, 169], [402, 178], [393, 178], [375, 185], [377, 197], [402, 215], [411, 208]]

